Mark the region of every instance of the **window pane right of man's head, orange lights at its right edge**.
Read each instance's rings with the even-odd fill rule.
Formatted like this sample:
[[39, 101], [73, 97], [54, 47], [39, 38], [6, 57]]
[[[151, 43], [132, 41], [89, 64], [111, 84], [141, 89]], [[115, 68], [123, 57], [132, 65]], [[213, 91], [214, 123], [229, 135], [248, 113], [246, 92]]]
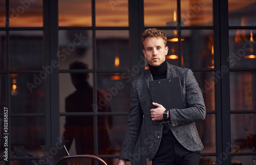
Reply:
[[181, 31], [182, 66], [186, 68], [214, 68], [214, 31]]

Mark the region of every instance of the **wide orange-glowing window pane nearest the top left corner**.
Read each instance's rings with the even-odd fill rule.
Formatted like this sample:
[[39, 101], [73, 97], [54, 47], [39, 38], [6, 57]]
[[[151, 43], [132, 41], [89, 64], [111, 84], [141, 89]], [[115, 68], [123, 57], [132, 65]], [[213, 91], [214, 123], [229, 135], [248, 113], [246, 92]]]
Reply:
[[11, 27], [42, 27], [42, 0], [10, 0], [9, 21]]

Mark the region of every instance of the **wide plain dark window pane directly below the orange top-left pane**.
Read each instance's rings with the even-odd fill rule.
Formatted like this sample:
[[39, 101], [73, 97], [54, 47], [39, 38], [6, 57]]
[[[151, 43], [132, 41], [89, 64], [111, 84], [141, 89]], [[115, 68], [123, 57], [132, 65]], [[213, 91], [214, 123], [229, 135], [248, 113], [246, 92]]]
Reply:
[[10, 70], [44, 69], [42, 31], [10, 31]]

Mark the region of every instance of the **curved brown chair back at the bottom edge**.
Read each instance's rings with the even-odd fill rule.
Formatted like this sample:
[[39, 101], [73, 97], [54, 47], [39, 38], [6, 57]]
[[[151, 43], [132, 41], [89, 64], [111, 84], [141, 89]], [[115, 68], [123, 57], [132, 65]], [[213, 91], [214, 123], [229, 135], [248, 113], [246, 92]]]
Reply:
[[102, 160], [101, 158], [94, 156], [94, 155], [68, 155], [68, 156], [63, 156], [61, 158], [58, 159], [56, 165], [60, 165], [61, 162], [65, 161], [67, 162], [68, 165], [91, 165], [91, 160], [97, 160], [101, 163], [103, 163], [104, 165], [108, 165], [106, 164], [106, 162], [104, 160]]

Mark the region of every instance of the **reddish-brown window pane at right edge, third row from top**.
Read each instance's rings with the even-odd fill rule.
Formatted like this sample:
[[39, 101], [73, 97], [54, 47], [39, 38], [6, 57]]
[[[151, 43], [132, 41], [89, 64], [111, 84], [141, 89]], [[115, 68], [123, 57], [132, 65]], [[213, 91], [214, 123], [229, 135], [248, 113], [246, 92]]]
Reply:
[[256, 110], [256, 72], [230, 72], [230, 110]]

